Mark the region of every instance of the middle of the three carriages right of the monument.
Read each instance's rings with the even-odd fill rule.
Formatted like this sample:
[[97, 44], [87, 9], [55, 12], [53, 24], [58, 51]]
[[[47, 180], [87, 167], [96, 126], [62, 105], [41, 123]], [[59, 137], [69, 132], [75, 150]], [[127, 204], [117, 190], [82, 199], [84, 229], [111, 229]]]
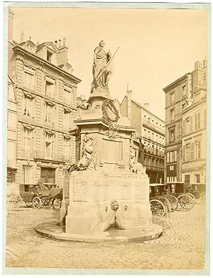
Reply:
[[168, 182], [165, 187], [168, 194], [178, 199], [178, 205], [185, 211], [194, 208], [196, 204], [195, 196], [187, 191], [185, 182]]

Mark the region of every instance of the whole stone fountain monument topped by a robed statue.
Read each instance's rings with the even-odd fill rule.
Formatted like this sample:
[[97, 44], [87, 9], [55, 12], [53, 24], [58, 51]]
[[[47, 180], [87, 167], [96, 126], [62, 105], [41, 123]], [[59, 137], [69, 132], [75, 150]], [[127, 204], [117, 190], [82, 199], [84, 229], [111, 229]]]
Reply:
[[[77, 128], [71, 131], [79, 160], [70, 167], [70, 180], [63, 190], [63, 202], [68, 203], [67, 234], [92, 235], [111, 226], [152, 225], [149, 179], [133, 151], [135, 128], [119, 113], [119, 102], [108, 87], [112, 58], [101, 40], [94, 50], [88, 104], [80, 109]], [[65, 206], [61, 212], [65, 214]]]

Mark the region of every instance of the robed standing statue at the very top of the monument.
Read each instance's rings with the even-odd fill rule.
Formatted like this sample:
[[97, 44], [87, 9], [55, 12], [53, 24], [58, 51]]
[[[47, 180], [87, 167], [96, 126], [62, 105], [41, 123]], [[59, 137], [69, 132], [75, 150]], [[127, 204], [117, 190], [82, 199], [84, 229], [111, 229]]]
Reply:
[[108, 82], [110, 78], [110, 72], [107, 67], [109, 57], [103, 48], [97, 47], [94, 50], [94, 63], [92, 66], [93, 82], [92, 87], [103, 87], [108, 89]]

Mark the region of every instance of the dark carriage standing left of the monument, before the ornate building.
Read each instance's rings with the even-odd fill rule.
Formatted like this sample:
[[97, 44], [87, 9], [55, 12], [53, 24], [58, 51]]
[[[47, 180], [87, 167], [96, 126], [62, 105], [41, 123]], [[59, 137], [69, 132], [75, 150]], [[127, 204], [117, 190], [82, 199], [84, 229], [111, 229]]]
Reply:
[[13, 195], [12, 202], [13, 205], [20, 208], [23, 202], [31, 208], [40, 208], [45, 206], [45, 208], [50, 208], [53, 206], [57, 208], [60, 206], [60, 201], [62, 199], [62, 189], [56, 188], [56, 185], [42, 184], [20, 184], [19, 186], [20, 194]]

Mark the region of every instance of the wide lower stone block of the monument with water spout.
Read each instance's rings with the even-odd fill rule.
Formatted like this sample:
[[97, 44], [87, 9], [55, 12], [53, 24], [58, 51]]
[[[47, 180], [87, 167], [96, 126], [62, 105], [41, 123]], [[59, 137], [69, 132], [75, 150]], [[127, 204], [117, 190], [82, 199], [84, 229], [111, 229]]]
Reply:
[[[70, 205], [66, 233], [91, 234], [107, 230], [115, 222], [121, 227], [148, 226], [151, 211], [146, 174], [103, 175], [92, 171], [70, 176]], [[111, 209], [116, 200], [119, 208]]]

